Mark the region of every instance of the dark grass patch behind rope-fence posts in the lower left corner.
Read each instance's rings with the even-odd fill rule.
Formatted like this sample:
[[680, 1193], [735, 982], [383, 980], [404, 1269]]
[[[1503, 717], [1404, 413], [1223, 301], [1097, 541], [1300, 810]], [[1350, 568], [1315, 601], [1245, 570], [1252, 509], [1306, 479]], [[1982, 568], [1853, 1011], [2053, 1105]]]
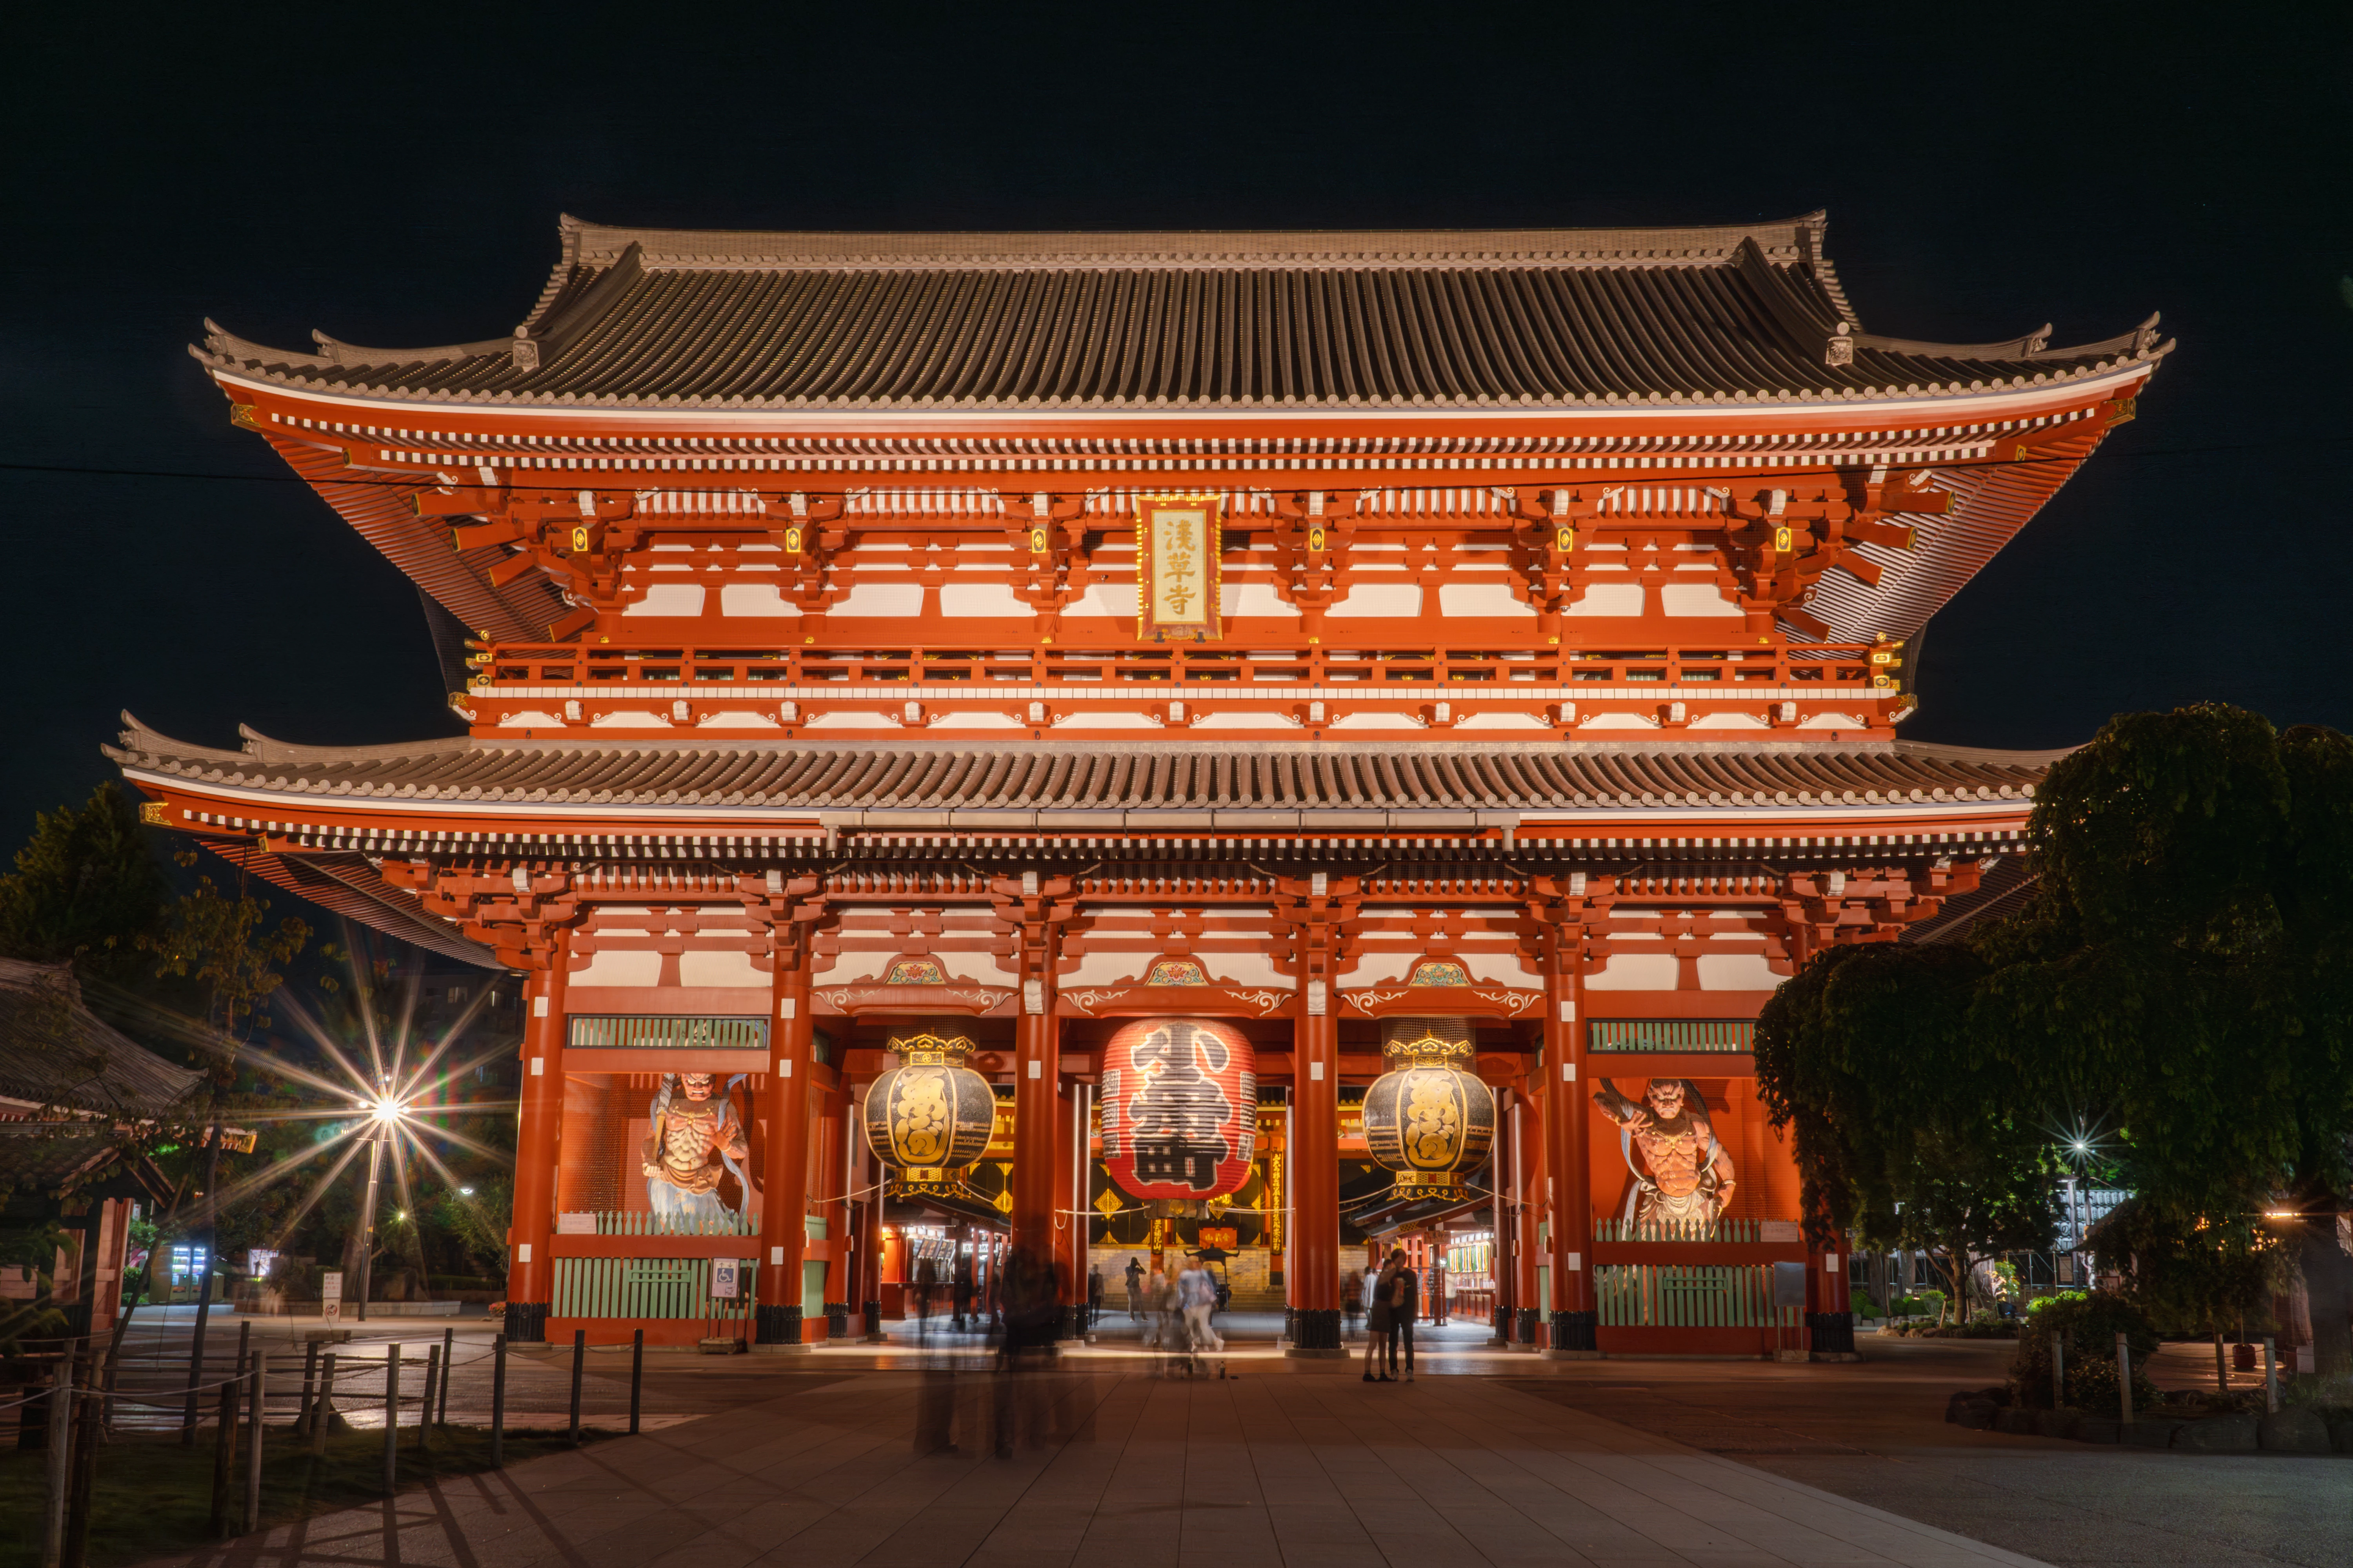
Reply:
[[[581, 1432], [581, 1443], [612, 1436]], [[212, 1427], [195, 1448], [179, 1434], [120, 1434], [99, 1448], [92, 1488], [89, 1563], [115, 1568], [151, 1556], [214, 1544], [212, 1523]], [[520, 1465], [569, 1448], [562, 1432], [508, 1432], [506, 1462]], [[0, 1568], [40, 1563], [42, 1509], [47, 1505], [47, 1453], [0, 1450]], [[416, 1429], [400, 1432], [400, 1490], [426, 1481], [489, 1469], [487, 1427], [435, 1427], [433, 1446], [416, 1448]], [[327, 1453], [311, 1458], [308, 1441], [271, 1427], [261, 1448], [261, 1523], [280, 1526], [313, 1514], [384, 1500], [384, 1432], [339, 1432]], [[231, 1519], [245, 1507], [245, 1450], [231, 1486]]]

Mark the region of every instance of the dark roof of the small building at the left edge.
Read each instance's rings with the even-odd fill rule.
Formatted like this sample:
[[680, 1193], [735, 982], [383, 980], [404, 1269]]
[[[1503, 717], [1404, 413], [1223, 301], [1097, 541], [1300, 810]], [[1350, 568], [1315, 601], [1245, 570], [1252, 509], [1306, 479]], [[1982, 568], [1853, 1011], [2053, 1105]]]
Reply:
[[179, 1105], [200, 1077], [82, 1006], [71, 964], [0, 959], [0, 1095], [148, 1119]]

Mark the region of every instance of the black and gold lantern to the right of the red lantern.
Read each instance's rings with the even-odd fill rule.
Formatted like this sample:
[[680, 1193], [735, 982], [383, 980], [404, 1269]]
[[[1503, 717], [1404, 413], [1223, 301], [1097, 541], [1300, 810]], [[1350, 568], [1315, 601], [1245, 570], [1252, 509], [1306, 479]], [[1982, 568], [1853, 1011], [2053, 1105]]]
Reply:
[[1494, 1145], [1494, 1091], [1471, 1072], [1471, 1020], [1386, 1018], [1388, 1067], [1365, 1091], [1365, 1150], [1398, 1197], [1461, 1199]]

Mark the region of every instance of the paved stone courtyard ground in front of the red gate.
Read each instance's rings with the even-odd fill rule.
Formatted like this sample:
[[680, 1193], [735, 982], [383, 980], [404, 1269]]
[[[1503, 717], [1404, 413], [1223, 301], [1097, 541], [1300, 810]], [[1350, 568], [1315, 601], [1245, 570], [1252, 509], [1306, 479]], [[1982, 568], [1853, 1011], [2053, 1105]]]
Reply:
[[[155, 1375], [179, 1316], [134, 1333]], [[365, 1340], [393, 1328], [369, 1326], [346, 1363], [381, 1354]], [[414, 1352], [440, 1328], [398, 1324]], [[261, 1333], [292, 1347], [301, 1331]], [[1457, 1326], [1421, 1331], [1417, 1382], [1365, 1385], [1353, 1361], [1275, 1354], [1273, 1321], [1245, 1314], [1226, 1331], [1228, 1356], [1198, 1378], [1167, 1375], [1120, 1321], [1014, 1378], [986, 1371], [979, 1338], [915, 1345], [904, 1331], [809, 1354], [647, 1354], [642, 1436], [167, 1561], [2238, 1568], [2344, 1563], [2353, 1542], [2341, 1455], [2092, 1448], [1946, 1425], [1953, 1389], [2000, 1382], [2007, 1342], [1866, 1338], [1849, 1366], [1558, 1363], [1489, 1352], [1485, 1328]], [[449, 1420], [487, 1418], [487, 1333], [475, 1321], [456, 1342]], [[518, 1425], [565, 1420], [569, 1361], [565, 1347], [511, 1356]], [[2184, 1354], [2167, 1371], [2195, 1368]], [[369, 1385], [353, 1373], [344, 1387], [365, 1425]], [[591, 1354], [586, 1420], [619, 1427], [626, 1408], [626, 1349]], [[995, 1455], [1000, 1434], [1009, 1458]]]

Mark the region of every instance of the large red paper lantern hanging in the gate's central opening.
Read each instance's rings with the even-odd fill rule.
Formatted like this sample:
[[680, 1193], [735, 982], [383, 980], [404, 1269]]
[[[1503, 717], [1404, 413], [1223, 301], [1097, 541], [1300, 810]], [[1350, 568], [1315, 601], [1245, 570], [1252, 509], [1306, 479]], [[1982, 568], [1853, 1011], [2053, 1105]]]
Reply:
[[1214, 1199], [1249, 1180], [1259, 1056], [1233, 1025], [1139, 1018], [1104, 1048], [1104, 1164], [1139, 1199]]

